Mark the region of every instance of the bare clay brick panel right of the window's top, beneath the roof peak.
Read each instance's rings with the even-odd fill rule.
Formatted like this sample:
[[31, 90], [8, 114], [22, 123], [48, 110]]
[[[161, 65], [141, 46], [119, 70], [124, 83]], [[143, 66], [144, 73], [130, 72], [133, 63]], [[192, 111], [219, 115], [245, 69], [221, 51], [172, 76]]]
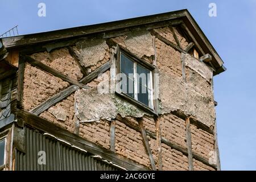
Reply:
[[182, 77], [180, 52], [156, 39], [156, 64], [161, 72]]

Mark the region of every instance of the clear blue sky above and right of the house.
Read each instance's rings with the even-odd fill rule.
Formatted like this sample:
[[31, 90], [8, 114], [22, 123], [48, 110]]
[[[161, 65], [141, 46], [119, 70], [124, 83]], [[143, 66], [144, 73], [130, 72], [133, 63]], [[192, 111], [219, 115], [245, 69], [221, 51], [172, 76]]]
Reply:
[[[46, 17], [38, 16], [40, 2]], [[211, 2], [217, 5], [212, 18]], [[222, 169], [256, 170], [256, 1], [0, 0], [0, 34], [16, 24], [19, 34], [32, 34], [180, 9], [190, 11], [228, 68], [214, 77]]]

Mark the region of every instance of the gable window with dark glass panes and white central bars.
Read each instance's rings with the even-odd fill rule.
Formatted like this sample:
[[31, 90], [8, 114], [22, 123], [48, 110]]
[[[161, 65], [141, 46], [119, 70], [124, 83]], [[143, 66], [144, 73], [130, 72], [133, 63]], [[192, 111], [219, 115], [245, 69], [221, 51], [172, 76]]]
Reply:
[[154, 66], [125, 51], [119, 52], [120, 91], [154, 111], [152, 71]]

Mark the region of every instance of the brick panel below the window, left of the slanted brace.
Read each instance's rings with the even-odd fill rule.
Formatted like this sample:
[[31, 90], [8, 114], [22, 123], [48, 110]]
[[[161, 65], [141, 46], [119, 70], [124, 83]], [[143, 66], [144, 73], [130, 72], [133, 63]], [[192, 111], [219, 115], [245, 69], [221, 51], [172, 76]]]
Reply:
[[130, 129], [130, 127], [119, 121], [115, 122], [115, 152], [139, 164], [150, 167], [141, 133]]

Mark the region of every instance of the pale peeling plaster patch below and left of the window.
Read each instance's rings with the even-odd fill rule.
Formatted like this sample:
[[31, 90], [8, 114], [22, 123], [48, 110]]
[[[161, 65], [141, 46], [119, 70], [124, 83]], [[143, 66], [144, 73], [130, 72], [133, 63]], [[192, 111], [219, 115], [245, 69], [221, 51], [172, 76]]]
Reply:
[[[117, 94], [101, 94], [97, 88], [80, 89], [75, 93], [76, 117], [80, 122], [100, 122], [101, 119], [111, 121], [120, 114], [122, 117], [131, 116], [141, 118], [148, 113], [137, 106], [123, 100]], [[92, 104], [93, 103], [93, 104]]]

